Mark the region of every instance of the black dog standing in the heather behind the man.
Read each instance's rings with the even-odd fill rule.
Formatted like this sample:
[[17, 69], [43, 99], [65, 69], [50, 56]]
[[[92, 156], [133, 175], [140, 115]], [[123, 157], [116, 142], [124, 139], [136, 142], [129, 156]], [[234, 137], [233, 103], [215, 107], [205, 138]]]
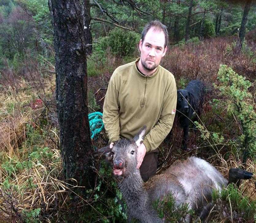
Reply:
[[[187, 149], [189, 123], [194, 112], [201, 114], [205, 94], [204, 84], [199, 80], [190, 81], [185, 89], [177, 91], [177, 117], [183, 128], [182, 148]], [[197, 117], [196, 117], [197, 119]]]

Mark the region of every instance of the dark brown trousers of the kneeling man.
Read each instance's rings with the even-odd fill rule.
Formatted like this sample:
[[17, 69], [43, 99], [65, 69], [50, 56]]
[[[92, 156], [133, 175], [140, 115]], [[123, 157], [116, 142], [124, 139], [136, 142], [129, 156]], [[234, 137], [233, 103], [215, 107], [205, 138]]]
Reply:
[[141, 178], [144, 182], [146, 182], [151, 176], [156, 173], [158, 153], [159, 149], [152, 150], [146, 153], [142, 161], [139, 170]]

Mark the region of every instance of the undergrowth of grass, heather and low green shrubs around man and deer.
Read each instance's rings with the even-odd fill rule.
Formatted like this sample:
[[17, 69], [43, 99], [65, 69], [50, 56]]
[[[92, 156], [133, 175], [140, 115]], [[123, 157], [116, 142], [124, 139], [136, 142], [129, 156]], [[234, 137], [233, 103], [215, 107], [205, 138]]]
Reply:
[[[207, 160], [226, 178], [231, 167], [255, 172], [255, 44], [248, 40], [245, 49], [249, 47], [250, 51], [242, 50], [238, 56], [233, 53], [232, 38], [194, 41], [184, 43], [182, 47], [173, 46], [161, 65], [174, 74], [178, 88], [185, 88], [192, 79], [201, 79], [206, 84], [208, 93], [197, 123], [199, 134], [190, 131], [188, 146], [192, 149], [184, 153], [179, 148], [181, 129], [174, 124], [170, 143], [160, 146], [162, 169], [177, 159], [194, 155]], [[96, 160], [93, 164], [95, 188], [85, 189], [83, 198], [71, 196], [74, 187], [64, 179], [59, 149], [55, 75], [48, 73], [54, 66], [50, 63], [39, 65], [38, 61], [30, 59], [33, 62], [25, 61], [21, 64], [24, 67], [17, 67], [16, 71], [8, 66], [0, 71], [1, 221], [125, 222], [125, 202], [111, 169], [104, 162]], [[94, 59], [97, 62], [94, 63]], [[102, 111], [106, 86], [113, 70], [132, 60], [132, 57], [113, 56], [109, 50], [104, 56], [94, 52], [88, 63], [91, 111]], [[218, 74], [220, 64], [226, 64], [234, 71], [222, 67]], [[230, 74], [230, 78], [224, 74]], [[231, 74], [235, 75], [236, 81], [231, 80]], [[250, 81], [250, 85], [246, 81]], [[245, 87], [240, 92], [234, 91], [230, 82]], [[216, 84], [216, 89], [212, 83]], [[236, 92], [244, 97], [232, 98]], [[213, 98], [218, 101], [213, 101]], [[104, 138], [106, 136], [102, 133], [98, 138], [100, 142], [94, 142], [95, 146], [103, 146], [106, 143]], [[248, 159], [244, 164], [242, 156], [246, 149]], [[222, 192], [225, 195], [214, 195], [217, 209], [212, 222], [228, 222], [231, 214], [233, 222], [255, 221], [256, 214], [252, 211], [256, 198], [254, 188], [254, 180], [243, 181], [238, 189], [232, 191], [228, 188], [229, 192]], [[188, 214], [187, 206], [174, 207], [171, 196], [156, 203], [160, 216], [165, 216], [170, 222], [178, 222]], [[172, 212], [168, 213], [168, 210]]]

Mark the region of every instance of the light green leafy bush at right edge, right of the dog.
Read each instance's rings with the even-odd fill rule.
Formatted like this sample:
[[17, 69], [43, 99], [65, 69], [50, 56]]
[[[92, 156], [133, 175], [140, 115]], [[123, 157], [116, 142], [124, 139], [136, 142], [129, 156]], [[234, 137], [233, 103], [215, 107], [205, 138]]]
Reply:
[[227, 112], [234, 115], [241, 135], [237, 137], [239, 152], [243, 154], [243, 163], [248, 156], [255, 159], [256, 154], [256, 113], [253, 96], [249, 92], [250, 81], [235, 73], [230, 67], [221, 65], [214, 87], [220, 91], [223, 100], [215, 100], [216, 104], [226, 107]]

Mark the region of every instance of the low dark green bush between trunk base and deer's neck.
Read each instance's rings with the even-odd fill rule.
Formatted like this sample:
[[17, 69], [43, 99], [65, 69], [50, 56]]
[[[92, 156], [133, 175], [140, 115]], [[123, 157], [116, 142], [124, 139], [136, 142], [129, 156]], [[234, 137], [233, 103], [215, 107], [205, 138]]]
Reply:
[[[94, 190], [87, 190], [86, 195], [91, 205], [81, 211], [77, 218], [79, 222], [127, 221], [126, 204], [122, 201], [122, 194], [113, 178], [112, 168], [105, 161], [100, 164]], [[72, 219], [73, 214], [77, 217], [77, 213], [69, 213], [66, 217], [67, 222]]]

